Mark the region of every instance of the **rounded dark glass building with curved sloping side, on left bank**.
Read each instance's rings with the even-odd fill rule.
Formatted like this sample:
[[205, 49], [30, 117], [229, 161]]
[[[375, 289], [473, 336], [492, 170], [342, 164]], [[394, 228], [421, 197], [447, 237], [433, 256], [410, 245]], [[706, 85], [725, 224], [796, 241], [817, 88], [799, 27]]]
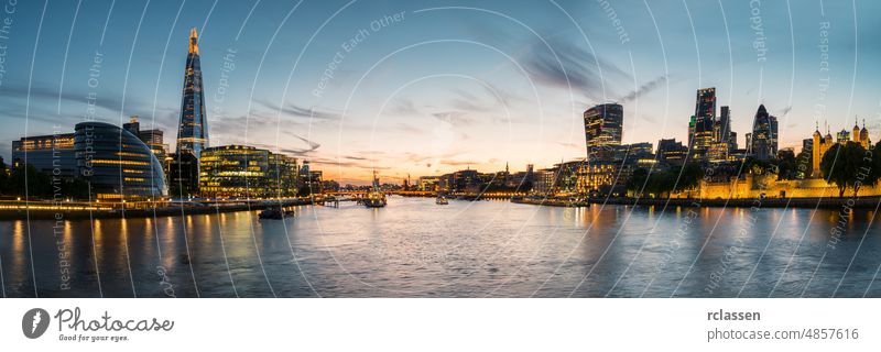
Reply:
[[99, 201], [159, 200], [167, 197], [162, 164], [138, 136], [104, 122], [77, 123], [74, 151], [79, 176]]

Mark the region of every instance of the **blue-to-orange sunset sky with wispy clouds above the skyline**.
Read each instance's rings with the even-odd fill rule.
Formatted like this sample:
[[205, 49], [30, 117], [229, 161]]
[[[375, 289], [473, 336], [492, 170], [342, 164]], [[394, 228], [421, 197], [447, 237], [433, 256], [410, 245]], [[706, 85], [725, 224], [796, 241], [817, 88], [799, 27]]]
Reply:
[[684, 140], [703, 87], [741, 146], [760, 103], [781, 147], [863, 119], [881, 140], [874, 0], [3, 3], [7, 162], [12, 140], [73, 131], [90, 103], [173, 147], [191, 28], [210, 145], [291, 154], [341, 184], [584, 157], [583, 112], [601, 102], [623, 105], [624, 143]]

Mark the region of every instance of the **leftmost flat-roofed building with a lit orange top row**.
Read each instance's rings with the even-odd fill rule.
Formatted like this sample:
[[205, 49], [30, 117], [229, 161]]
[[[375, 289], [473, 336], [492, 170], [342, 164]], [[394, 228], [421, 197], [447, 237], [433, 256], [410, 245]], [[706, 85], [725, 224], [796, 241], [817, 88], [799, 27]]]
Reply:
[[25, 136], [12, 141], [12, 165], [32, 165], [36, 170], [64, 178], [76, 176], [74, 134]]

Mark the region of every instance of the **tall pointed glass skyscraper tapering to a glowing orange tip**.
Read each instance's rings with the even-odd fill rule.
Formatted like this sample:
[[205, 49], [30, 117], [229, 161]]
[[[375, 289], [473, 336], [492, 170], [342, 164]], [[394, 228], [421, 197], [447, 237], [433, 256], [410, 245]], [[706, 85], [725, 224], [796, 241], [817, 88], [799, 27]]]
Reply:
[[202, 87], [198, 33], [189, 31], [189, 53], [186, 56], [184, 91], [181, 102], [181, 124], [177, 127], [175, 153], [192, 153], [197, 160], [208, 147], [208, 117], [205, 114], [205, 97]]

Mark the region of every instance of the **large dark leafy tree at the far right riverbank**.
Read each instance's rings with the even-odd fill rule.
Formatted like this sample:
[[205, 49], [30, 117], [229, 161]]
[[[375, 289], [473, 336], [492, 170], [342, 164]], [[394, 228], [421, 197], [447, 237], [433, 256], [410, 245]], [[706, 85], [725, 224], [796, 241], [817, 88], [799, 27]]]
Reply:
[[852, 188], [856, 197], [861, 186], [874, 186], [881, 177], [879, 157], [881, 151], [878, 145], [872, 153], [867, 153], [857, 142], [835, 144], [823, 154], [819, 169], [827, 183], [838, 187], [838, 197], [844, 197], [847, 188]]

